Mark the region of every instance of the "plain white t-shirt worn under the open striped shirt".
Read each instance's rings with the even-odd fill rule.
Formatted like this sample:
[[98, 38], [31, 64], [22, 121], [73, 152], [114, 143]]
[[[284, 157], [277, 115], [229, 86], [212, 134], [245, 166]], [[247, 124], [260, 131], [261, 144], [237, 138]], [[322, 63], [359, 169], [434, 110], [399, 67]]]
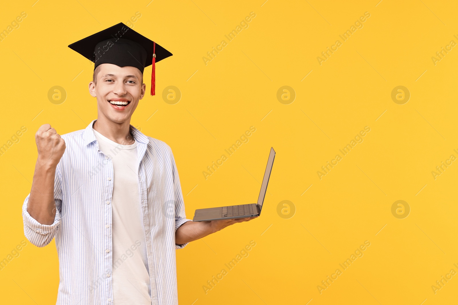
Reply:
[[113, 162], [113, 302], [151, 305], [145, 229], [138, 186], [137, 142], [118, 144], [93, 129], [99, 149]]

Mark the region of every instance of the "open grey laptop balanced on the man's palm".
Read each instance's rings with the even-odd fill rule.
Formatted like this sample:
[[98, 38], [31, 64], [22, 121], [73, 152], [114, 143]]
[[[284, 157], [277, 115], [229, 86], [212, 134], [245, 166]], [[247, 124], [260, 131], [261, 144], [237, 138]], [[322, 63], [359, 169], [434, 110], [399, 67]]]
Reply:
[[242, 205], [230, 205], [227, 207], [196, 209], [193, 221], [208, 221], [217, 219], [235, 219], [245, 217], [256, 217], [261, 215], [262, 203], [266, 196], [267, 184], [269, 183], [270, 172], [272, 171], [273, 159], [275, 158], [275, 150], [270, 149], [269, 159], [267, 160], [266, 171], [262, 179], [261, 191], [257, 203], [249, 203]]

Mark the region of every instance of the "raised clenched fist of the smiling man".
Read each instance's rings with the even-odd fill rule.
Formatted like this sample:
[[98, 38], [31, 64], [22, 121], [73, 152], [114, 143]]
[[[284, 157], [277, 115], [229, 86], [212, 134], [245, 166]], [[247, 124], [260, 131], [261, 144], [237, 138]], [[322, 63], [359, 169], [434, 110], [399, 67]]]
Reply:
[[57, 166], [64, 155], [65, 140], [49, 124], [41, 125], [35, 134], [37, 142], [38, 161], [49, 166]]

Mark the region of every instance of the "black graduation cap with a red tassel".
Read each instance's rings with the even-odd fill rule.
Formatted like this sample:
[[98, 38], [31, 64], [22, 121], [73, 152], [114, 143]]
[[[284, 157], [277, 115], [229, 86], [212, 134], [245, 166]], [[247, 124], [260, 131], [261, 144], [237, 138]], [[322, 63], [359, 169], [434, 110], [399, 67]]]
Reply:
[[94, 63], [94, 70], [99, 64], [115, 64], [120, 67], [136, 67], [143, 73], [145, 67], [152, 64], [152, 96], [155, 94], [155, 63], [172, 56], [172, 53], [122, 22], [72, 43], [68, 47], [91, 60]]

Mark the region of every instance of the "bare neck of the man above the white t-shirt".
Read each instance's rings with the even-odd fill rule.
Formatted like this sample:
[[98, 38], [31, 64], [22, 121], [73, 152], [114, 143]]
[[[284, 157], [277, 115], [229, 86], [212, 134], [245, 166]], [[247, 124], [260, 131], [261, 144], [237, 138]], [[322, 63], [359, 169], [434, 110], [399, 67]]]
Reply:
[[123, 123], [115, 123], [107, 118], [97, 118], [93, 128], [104, 137], [122, 145], [131, 145], [135, 139], [130, 133], [130, 120]]

